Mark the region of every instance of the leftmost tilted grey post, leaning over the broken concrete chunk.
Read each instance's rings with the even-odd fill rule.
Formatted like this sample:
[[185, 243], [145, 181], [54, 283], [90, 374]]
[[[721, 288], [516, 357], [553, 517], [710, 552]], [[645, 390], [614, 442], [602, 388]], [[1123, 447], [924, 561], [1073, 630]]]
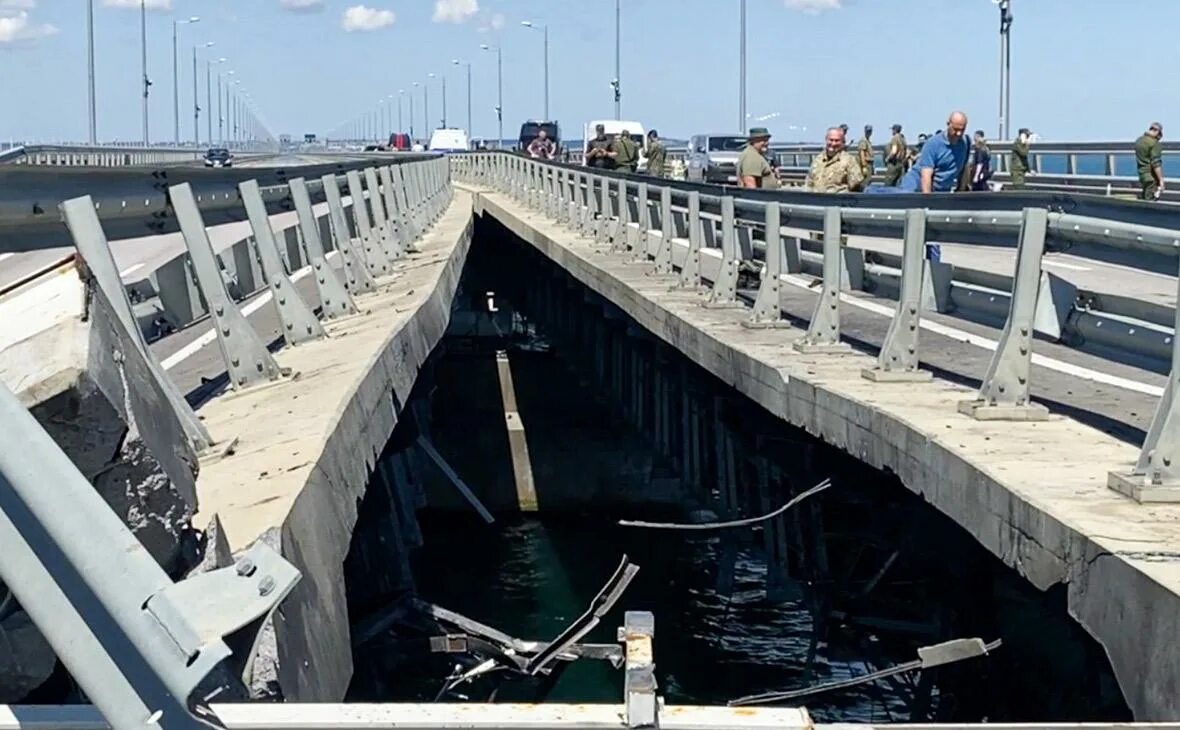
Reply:
[[[114, 264], [114, 257], [111, 255], [111, 245], [106, 239], [106, 234], [103, 232], [103, 224], [98, 221], [98, 213], [94, 211], [94, 200], [90, 196], [86, 196], [66, 200], [59, 208], [61, 209], [61, 215], [65, 217], [66, 228], [70, 229], [74, 248], [78, 249], [78, 255], [85, 262], [86, 269], [90, 270], [90, 283], [101, 290], [103, 296], [110, 302], [111, 308], [118, 317], [118, 324], [123, 328], [124, 336], [135, 343], [139, 357], [148, 363], [148, 370], [176, 413], [176, 417], [182, 428], [184, 428], [184, 435], [189, 440], [192, 451], [204, 451], [214, 440], [209, 435], [205, 425], [194, 413], [192, 407], [184, 400], [181, 389], [176, 387], [172, 379], [164, 371], [159, 359], [156, 357], [156, 354], [148, 347], [148, 342], [144, 341], [143, 330], [139, 329], [139, 323], [131, 308], [131, 300], [127, 298], [127, 288], [123, 285], [123, 279], [119, 278], [119, 269]], [[124, 357], [130, 355], [124, 355]]]

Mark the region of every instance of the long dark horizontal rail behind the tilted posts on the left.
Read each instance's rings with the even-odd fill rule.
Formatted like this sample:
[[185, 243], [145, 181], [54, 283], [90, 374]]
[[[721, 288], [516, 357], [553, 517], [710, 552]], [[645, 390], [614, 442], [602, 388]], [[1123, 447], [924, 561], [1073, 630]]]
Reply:
[[[431, 159], [431, 154], [382, 156], [401, 164]], [[313, 202], [322, 202], [320, 178], [329, 172], [343, 176], [352, 170], [382, 164], [367, 157], [320, 165], [275, 167], [204, 167], [61, 170], [24, 165], [0, 165], [0, 254], [70, 245], [57, 206], [66, 199], [88, 195], [111, 238], [133, 238], [175, 232], [178, 223], [169, 197], [170, 186], [188, 183], [210, 225], [243, 221], [238, 185], [257, 180], [270, 212], [294, 210], [288, 183], [304, 177]]]

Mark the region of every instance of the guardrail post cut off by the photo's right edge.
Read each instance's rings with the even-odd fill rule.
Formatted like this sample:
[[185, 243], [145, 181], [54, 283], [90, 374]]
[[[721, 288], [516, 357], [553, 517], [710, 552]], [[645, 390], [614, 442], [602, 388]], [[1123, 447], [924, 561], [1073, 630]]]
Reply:
[[[1180, 307], [1176, 308], [1173, 327], [1180, 333]], [[1139, 460], [1129, 473], [1110, 472], [1107, 475], [1108, 487], [1138, 502], [1180, 502], [1180, 399], [1175, 397], [1176, 379], [1180, 379], [1180, 337], [1173, 336], [1172, 371], [1155, 407]]]

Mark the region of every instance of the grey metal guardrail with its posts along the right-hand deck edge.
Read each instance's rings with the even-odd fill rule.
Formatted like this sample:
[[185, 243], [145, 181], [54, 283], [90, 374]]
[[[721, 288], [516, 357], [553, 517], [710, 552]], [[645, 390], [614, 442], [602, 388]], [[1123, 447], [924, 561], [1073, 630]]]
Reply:
[[[784, 228], [822, 231], [822, 285], [807, 334], [795, 343], [806, 353], [848, 348], [840, 340], [845, 235], [903, 241], [897, 310], [877, 366], [865, 371], [865, 377], [879, 382], [930, 379], [919, 369], [918, 348], [923, 292], [937, 277], [936, 267], [926, 262], [926, 244], [1015, 242], [1016, 267], [999, 342], [977, 396], [959, 405], [962, 413], [979, 420], [1048, 417], [1048, 410], [1030, 399], [1034, 333], [1038, 315], [1051, 305], [1042, 289], [1048, 243], [1084, 242], [1109, 250], [1152, 252], [1171, 259], [1173, 271], [1180, 251], [1180, 225], [1162, 228], [1081, 215], [1044, 204], [1061, 202], [1053, 197], [1038, 205], [1035, 198], [1012, 196], [1007, 200], [1008, 210], [963, 210], [953, 205], [989, 196], [781, 195], [603, 175], [498, 152], [457, 156], [452, 166], [461, 179], [490, 185], [572, 232], [603, 244], [609, 242], [615, 250], [629, 250], [638, 261], [654, 259], [656, 271], [671, 274], [678, 269], [682, 285], [708, 283], [709, 300], [717, 304], [739, 303], [739, 270], [742, 263], [754, 259], [752, 243], [742, 242], [752, 242], [754, 230], [761, 229], [766, 255], [761, 285], [748, 315], [750, 327], [782, 321], [778, 292], [792, 256], [792, 248], [784, 242]], [[1130, 210], [1139, 208], [1133, 205]], [[720, 235], [709, 235], [716, 229], [704, 225], [706, 211], [720, 217]], [[740, 229], [747, 234], [739, 236]], [[1180, 322], [1173, 313], [1173, 335], [1176, 331]], [[1113, 489], [1140, 501], [1180, 501], [1180, 399], [1173, 397], [1173, 382], [1180, 375], [1180, 341], [1172, 336], [1168, 346], [1173, 377], [1160, 399], [1138, 463], [1129, 473], [1112, 472], [1108, 476]]]

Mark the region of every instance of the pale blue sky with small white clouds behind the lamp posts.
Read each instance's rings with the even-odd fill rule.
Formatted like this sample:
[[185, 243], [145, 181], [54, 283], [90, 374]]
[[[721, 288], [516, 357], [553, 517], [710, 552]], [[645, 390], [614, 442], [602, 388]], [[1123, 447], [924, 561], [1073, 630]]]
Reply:
[[[0, 139], [87, 136], [86, 1], [0, 0]], [[93, 0], [98, 136], [142, 137], [140, 0]], [[503, 50], [504, 127], [543, 116], [543, 33], [549, 26], [550, 116], [563, 137], [614, 117], [612, 0], [144, 0], [152, 142], [171, 140], [172, 20], [179, 26], [181, 130], [192, 136], [192, 47], [234, 71], [275, 134], [321, 137], [388, 104], [402, 127], [409, 98], [422, 129], [466, 126], [494, 137], [496, 54]], [[739, 127], [739, 0], [621, 0], [622, 117], [666, 137]], [[1180, 0], [1012, 0], [1011, 129], [1047, 140], [1134, 139], [1180, 112], [1161, 35], [1180, 26]], [[999, 13], [991, 0], [747, 0], [748, 120], [779, 142], [818, 142], [846, 123], [881, 139], [911, 137], [965, 111], [997, 133]], [[1162, 38], [1166, 38], [1165, 33]], [[1167, 42], [1166, 40], [1163, 42]], [[455, 66], [452, 60], [460, 60]], [[433, 73], [431, 79], [428, 74]], [[216, 74], [216, 71], [215, 71]], [[216, 75], [214, 77], [216, 79]], [[216, 80], [214, 81], [216, 86]], [[393, 97], [391, 100], [389, 97]], [[202, 138], [205, 123], [202, 120]], [[216, 126], [216, 123], [215, 123]], [[382, 124], [382, 127], [385, 125]], [[392, 130], [391, 130], [392, 131]]]

